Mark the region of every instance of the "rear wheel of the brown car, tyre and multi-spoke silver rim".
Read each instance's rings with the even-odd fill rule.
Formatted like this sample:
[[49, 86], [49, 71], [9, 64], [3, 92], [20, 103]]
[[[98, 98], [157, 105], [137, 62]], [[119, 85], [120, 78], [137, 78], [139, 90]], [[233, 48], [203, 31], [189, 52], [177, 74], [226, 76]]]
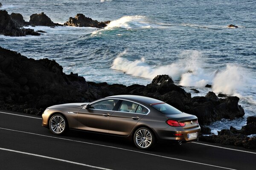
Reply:
[[133, 136], [134, 144], [142, 150], [152, 149], [155, 145], [155, 136], [147, 127], [140, 127]]

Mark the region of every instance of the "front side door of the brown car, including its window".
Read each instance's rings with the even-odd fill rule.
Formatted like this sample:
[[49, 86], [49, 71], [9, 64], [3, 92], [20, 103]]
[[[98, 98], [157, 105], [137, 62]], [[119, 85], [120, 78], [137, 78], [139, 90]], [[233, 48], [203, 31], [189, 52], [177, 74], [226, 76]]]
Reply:
[[109, 119], [118, 100], [105, 99], [92, 103], [78, 113], [78, 129], [109, 133]]

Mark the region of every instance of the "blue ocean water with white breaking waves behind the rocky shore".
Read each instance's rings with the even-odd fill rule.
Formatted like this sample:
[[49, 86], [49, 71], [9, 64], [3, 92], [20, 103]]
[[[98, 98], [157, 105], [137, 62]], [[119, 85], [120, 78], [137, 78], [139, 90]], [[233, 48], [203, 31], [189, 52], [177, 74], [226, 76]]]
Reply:
[[[213, 133], [256, 116], [255, 0], [1, 0], [26, 21], [44, 12], [55, 23], [82, 13], [112, 22], [104, 29], [44, 26], [40, 37], [5, 37], [0, 46], [49, 58], [87, 81], [146, 85], [169, 74], [192, 96], [208, 91], [239, 96], [243, 118], [215, 122]], [[239, 28], [227, 28], [229, 24]], [[30, 28], [30, 27], [28, 27]], [[211, 84], [212, 89], [205, 88]], [[195, 94], [191, 88], [200, 91]]]

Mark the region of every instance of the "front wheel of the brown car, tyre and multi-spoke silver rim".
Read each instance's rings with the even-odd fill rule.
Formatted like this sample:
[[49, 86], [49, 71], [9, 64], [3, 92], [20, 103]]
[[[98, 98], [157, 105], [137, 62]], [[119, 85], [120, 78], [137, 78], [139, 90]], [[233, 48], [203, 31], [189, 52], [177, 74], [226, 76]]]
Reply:
[[64, 134], [67, 131], [67, 120], [61, 114], [55, 114], [49, 120], [49, 129], [55, 135]]

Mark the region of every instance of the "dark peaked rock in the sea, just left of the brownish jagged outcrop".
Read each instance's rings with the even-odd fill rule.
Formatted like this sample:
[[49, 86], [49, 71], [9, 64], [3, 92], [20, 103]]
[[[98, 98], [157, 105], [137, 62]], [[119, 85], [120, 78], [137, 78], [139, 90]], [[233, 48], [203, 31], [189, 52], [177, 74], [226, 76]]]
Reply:
[[55, 26], [52, 20], [47, 17], [44, 12], [42, 12], [41, 14], [32, 14], [30, 16], [29, 24], [34, 26]]

